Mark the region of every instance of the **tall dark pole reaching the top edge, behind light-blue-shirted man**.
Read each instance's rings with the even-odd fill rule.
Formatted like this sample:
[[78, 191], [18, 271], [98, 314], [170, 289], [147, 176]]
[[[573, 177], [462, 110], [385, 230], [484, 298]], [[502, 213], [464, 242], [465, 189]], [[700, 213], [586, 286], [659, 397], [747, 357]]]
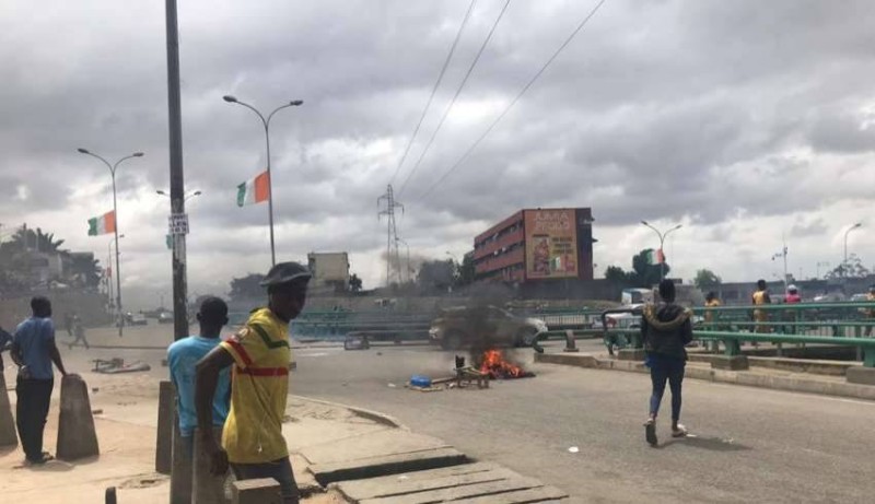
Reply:
[[[166, 0], [167, 31], [167, 119], [171, 155], [171, 212], [185, 213], [185, 174], [183, 171], [183, 117], [179, 96], [179, 33], [176, 0]], [[184, 234], [173, 237], [173, 336], [188, 336], [188, 284]]]

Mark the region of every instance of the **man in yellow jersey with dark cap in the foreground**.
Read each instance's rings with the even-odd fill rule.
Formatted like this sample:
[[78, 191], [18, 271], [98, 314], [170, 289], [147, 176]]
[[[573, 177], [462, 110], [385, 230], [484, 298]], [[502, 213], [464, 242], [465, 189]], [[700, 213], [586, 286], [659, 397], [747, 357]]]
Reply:
[[[243, 329], [197, 365], [198, 435], [210, 454], [212, 472], [224, 474], [230, 464], [238, 480], [273, 478], [284, 504], [299, 502], [282, 436], [291, 363], [289, 323], [304, 309], [310, 279], [310, 270], [298, 262], [273, 266], [261, 282], [268, 306], [255, 309]], [[212, 397], [220, 372], [232, 365], [231, 411], [220, 447], [211, 431]]]

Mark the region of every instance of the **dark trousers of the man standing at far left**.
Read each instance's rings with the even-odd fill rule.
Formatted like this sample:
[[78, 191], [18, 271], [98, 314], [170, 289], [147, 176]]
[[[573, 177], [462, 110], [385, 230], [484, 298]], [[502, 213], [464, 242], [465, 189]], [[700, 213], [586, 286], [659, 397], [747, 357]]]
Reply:
[[24, 455], [27, 460], [43, 458], [43, 431], [46, 429], [48, 405], [51, 400], [54, 379], [19, 378], [15, 386], [15, 425], [19, 427]]

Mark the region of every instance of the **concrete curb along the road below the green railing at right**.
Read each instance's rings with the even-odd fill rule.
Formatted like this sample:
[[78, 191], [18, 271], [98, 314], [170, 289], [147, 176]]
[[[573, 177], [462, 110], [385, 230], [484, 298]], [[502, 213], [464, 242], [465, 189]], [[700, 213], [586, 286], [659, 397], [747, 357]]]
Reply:
[[[634, 373], [646, 373], [642, 362], [615, 361], [598, 359], [586, 354], [544, 353], [535, 355], [535, 362], [545, 364], [571, 365], [594, 370], [617, 370]], [[875, 400], [875, 386], [849, 384], [844, 382], [817, 379], [800, 376], [777, 376], [750, 371], [724, 371], [699, 366], [687, 366], [686, 377], [715, 383], [746, 385], [748, 387], [770, 388], [825, 396], [848, 397], [853, 399]]]

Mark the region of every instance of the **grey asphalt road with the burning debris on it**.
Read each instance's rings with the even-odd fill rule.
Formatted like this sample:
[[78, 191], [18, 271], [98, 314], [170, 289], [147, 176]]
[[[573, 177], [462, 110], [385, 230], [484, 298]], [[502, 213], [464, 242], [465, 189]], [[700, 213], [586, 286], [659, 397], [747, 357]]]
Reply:
[[471, 457], [555, 484], [573, 502], [863, 503], [875, 495], [875, 402], [687, 380], [681, 422], [695, 437], [670, 439], [666, 392], [662, 446], [651, 448], [641, 426], [646, 375], [518, 355], [537, 377], [425, 394], [404, 384], [412, 374], [448, 376], [452, 353], [302, 349], [292, 390], [390, 414]]

